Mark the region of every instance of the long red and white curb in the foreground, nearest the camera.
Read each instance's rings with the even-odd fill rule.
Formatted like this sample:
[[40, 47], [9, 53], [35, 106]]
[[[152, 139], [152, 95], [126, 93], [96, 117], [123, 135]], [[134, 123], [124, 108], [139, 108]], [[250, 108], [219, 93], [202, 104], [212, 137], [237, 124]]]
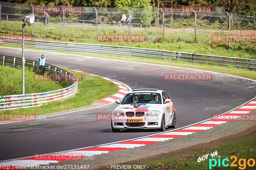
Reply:
[[[104, 99], [105, 100], [105, 99]], [[106, 100], [107, 101], [107, 100]], [[196, 132], [205, 131], [216, 127], [220, 124], [224, 124], [236, 118], [242, 117], [243, 115], [248, 114], [249, 112], [256, 109], [256, 99], [252, 100], [240, 106], [239, 108], [230, 111], [228, 113], [218, 115], [211, 119], [207, 119], [199, 124], [194, 124], [188, 127], [180, 128], [178, 130], [170, 132], [162, 132], [156, 135], [147, 136], [143, 138], [131, 139], [129, 141], [119, 141], [116, 143], [103, 144], [98, 146], [92, 146], [91, 148], [78, 149], [69, 152], [49, 154], [47, 156], [32, 157], [27, 159], [18, 159], [0, 162], [0, 165], [4, 166], [37, 166], [37, 165], [48, 165], [50, 163], [58, 163], [59, 161], [65, 161], [65, 159], [60, 158], [60, 155], [81, 155], [81, 157], [90, 157], [93, 155], [99, 155], [102, 153], [115, 152], [117, 150], [135, 148], [145, 145], [154, 144], [156, 142], [162, 142], [165, 140], [171, 140], [173, 138], [179, 138], [185, 135], [190, 135]], [[57, 156], [56, 156], [57, 155]], [[59, 157], [58, 157], [59, 156]]]

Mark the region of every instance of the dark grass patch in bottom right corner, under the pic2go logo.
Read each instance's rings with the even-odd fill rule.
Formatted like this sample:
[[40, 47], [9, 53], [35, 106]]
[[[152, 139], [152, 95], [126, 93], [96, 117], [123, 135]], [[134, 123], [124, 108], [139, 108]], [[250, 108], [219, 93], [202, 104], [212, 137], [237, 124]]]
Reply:
[[[229, 163], [229, 166], [224, 167], [220, 163], [220, 167], [218, 167], [218, 162], [215, 167], [212, 169], [238, 169], [239, 167], [245, 169], [255, 169], [255, 165], [250, 167], [247, 164], [248, 159], [256, 158], [256, 149], [255, 149], [255, 140], [256, 135], [252, 135], [245, 138], [238, 138], [236, 140], [230, 140], [224, 143], [221, 143], [218, 146], [214, 147], [207, 147], [207, 148], [200, 148], [198, 150], [193, 151], [184, 151], [181, 154], [168, 154], [167, 159], [160, 159], [148, 161], [143, 160], [143, 164], [146, 164], [146, 167], [150, 167], [150, 169], [177, 169], [177, 170], [184, 170], [184, 169], [198, 169], [198, 170], [205, 170], [209, 169], [209, 160], [216, 159], [218, 161], [218, 156], [220, 156], [220, 160], [229, 159], [229, 162], [225, 161], [225, 163]], [[212, 152], [218, 152], [218, 156], [212, 158]], [[198, 158], [208, 154], [208, 159], [204, 161], [198, 162]], [[235, 164], [237, 167], [230, 167], [230, 164], [234, 161], [230, 159], [231, 156], [236, 156], [237, 160]], [[246, 159], [246, 166], [243, 165], [243, 161], [241, 161], [241, 165], [238, 164], [239, 159]], [[212, 164], [214, 161], [212, 161]], [[252, 161], [251, 161], [252, 164]], [[239, 168], [240, 169], [240, 168]]]

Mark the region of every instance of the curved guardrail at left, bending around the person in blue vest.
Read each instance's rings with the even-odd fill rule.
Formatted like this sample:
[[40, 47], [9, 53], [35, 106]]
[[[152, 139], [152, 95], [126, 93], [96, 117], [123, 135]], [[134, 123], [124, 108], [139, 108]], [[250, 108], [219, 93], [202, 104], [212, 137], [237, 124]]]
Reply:
[[[0, 54], [0, 64], [3, 66], [19, 68], [22, 67], [22, 58], [5, 56]], [[34, 72], [39, 70], [38, 61], [26, 59], [25, 66], [33, 67]], [[47, 91], [43, 93], [0, 96], [0, 110], [2, 111], [41, 106], [45, 103], [67, 99], [69, 96], [73, 96], [77, 92], [78, 80], [75, 75], [52, 65], [46, 65], [45, 72], [49, 72], [49, 74], [54, 73], [60, 74], [62, 76], [68, 76], [68, 82], [72, 83], [72, 85], [63, 89]], [[60, 76], [60, 79], [62, 76]]]

